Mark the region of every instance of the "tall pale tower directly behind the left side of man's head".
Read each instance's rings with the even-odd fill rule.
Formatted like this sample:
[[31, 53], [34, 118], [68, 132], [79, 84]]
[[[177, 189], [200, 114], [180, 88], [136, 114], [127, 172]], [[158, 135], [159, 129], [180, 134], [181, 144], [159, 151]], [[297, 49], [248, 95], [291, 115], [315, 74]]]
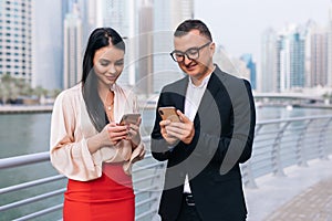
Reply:
[[184, 76], [177, 63], [169, 56], [173, 51], [173, 33], [186, 19], [194, 18], [194, 0], [154, 0], [154, 81], [153, 92]]

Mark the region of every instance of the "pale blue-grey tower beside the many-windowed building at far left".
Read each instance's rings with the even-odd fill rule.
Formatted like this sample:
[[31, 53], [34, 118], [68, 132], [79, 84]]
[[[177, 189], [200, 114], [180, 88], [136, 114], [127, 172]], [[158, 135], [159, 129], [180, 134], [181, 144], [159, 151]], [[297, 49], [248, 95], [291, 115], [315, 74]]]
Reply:
[[33, 87], [62, 88], [64, 18], [62, 10], [65, 6], [64, 1], [33, 1]]

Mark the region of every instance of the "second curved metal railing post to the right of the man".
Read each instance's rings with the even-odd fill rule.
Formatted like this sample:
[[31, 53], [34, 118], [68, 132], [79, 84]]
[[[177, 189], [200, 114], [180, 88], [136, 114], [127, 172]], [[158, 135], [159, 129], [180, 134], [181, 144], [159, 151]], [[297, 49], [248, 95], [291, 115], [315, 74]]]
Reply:
[[281, 138], [283, 136], [283, 133], [286, 130], [286, 128], [288, 127], [288, 125], [290, 124], [290, 122], [284, 123], [284, 125], [280, 128], [280, 130], [278, 131], [274, 143], [272, 145], [272, 167], [273, 167], [273, 175], [278, 176], [278, 177], [284, 177], [284, 172], [283, 172], [283, 168], [282, 168], [282, 164], [281, 164], [281, 157], [280, 157], [280, 141]]

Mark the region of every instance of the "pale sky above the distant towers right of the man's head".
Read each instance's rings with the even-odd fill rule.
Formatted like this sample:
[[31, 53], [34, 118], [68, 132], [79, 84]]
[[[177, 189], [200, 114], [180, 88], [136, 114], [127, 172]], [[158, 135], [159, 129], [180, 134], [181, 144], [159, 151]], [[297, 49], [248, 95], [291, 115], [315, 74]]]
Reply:
[[217, 44], [234, 56], [260, 60], [261, 33], [309, 19], [325, 27], [331, 0], [195, 0], [195, 17], [207, 23]]

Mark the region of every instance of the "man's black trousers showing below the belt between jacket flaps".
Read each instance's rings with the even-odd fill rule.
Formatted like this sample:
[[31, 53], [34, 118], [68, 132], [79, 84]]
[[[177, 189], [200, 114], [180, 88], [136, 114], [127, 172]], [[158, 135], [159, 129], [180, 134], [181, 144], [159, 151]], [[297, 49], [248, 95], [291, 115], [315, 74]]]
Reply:
[[176, 221], [201, 221], [193, 194], [184, 193], [180, 213]]

